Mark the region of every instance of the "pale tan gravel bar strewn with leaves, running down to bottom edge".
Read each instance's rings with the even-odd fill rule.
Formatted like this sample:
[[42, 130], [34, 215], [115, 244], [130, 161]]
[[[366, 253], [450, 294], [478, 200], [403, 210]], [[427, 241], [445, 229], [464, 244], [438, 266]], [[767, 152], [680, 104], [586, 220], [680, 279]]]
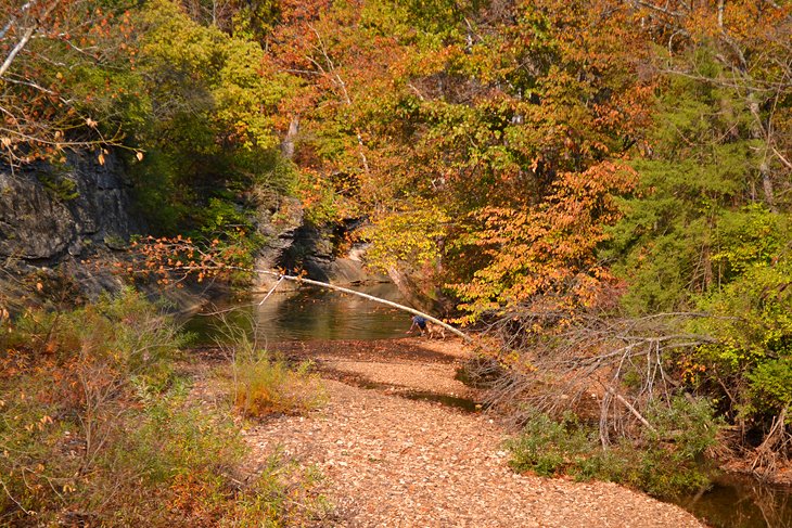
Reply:
[[464, 356], [459, 343], [301, 346], [283, 349], [358, 381], [392, 383], [391, 390], [372, 390], [328, 379], [330, 401], [321, 411], [272, 418], [246, 432], [261, 458], [282, 449], [318, 466], [327, 477], [324, 494], [336, 506], [335, 526], [704, 526], [677, 506], [616, 485], [516, 475], [501, 447], [504, 432], [486, 414], [388, 395], [399, 383], [469, 390], [449, 378]]

